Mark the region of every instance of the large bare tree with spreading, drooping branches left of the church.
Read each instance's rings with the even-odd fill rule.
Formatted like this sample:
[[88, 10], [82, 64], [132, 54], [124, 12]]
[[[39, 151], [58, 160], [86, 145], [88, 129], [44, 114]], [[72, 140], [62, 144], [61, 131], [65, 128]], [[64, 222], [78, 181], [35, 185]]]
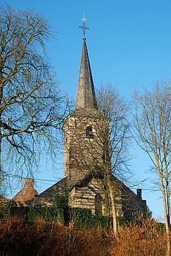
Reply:
[[68, 102], [46, 53], [52, 37], [42, 15], [0, 5], [1, 180], [32, 173], [43, 152], [55, 155]]

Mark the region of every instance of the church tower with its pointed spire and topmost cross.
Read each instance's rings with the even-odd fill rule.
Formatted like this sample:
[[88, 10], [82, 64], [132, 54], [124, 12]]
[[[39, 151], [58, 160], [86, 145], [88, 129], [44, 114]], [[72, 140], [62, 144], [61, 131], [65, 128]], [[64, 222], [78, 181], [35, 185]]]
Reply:
[[73, 184], [95, 172], [92, 144], [99, 115], [85, 43], [85, 25], [81, 28], [84, 28], [84, 37], [75, 110], [69, 113], [64, 124], [64, 177], [69, 175]]

